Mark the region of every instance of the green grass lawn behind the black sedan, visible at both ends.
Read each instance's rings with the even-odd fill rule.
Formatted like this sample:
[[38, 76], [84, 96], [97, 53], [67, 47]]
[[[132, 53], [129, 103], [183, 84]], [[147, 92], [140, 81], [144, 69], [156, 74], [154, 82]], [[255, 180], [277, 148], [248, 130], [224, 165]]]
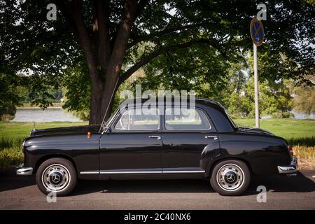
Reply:
[[[254, 127], [253, 119], [234, 119], [237, 125]], [[85, 122], [36, 123], [36, 129], [87, 125]], [[22, 141], [29, 137], [33, 123], [0, 122], [0, 168], [23, 161]], [[315, 120], [292, 118], [260, 120], [260, 127], [288, 140], [298, 157], [300, 168], [315, 169]]]

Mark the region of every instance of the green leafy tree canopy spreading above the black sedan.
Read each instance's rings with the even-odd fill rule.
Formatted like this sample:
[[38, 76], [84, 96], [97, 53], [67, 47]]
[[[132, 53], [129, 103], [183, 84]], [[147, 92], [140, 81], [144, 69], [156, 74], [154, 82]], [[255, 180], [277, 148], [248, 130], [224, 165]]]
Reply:
[[[66, 1], [66, 4], [71, 2]], [[83, 25], [90, 38], [92, 55], [97, 58], [94, 68], [106, 79], [99, 64], [104, 70], [107, 62], [97, 57], [100, 53], [97, 49], [103, 42], [97, 41], [92, 29], [95, 8], [92, 1], [81, 2]], [[123, 1], [108, 2], [103, 14], [109, 16], [106, 34], [110, 36], [109, 49], [113, 49]], [[56, 21], [46, 19], [48, 3], [57, 5]], [[52, 97], [47, 91], [49, 87], [64, 85], [67, 90], [65, 107], [87, 110], [91, 91], [87, 76], [89, 66], [79, 46], [80, 41], [76, 39], [76, 29], [66, 22], [66, 13], [62, 14], [60, 3], [1, 1], [0, 72], [13, 79], [16, 73], [31, 73], [23, 78], [26, 81], [21, 85], [36, 95], [36, 104], [49, 106]], [[132, 26], [122, 71], [128, 71], [137, 62], [158, 52], [158, 57], [144, 63], [142, 68], [146, 76], [137, 79], [136, 83], [141, 83], [144, 89], [196, 90], [199, 96], [223, 99], [222, 92], [228, 81], [240, 75], [228, 74], [230, 63], [242, 63], [244, 52], [252, 48], [248, 25], [258, 11], [258, 3], [260, 1], [251, 0], [149, 1]], [[263, 21], [266, 38], [258, 48], [262, 83], [314, 75], [314, 14], [314, 6], [300, 0], [267, 2], [267, 20]], [[112, 55], [112, 52], [106, 55]], [[244, 88], [242, 85], [237, 87], [237, 83], [231, 85], [238, 90]], [[230, 96], [237, 102], [233, 92]], [[249, 99], [244, 104], [249, 105]], [[272, 111], [279, 109], [273, 100], [267, 102]], [[244, 113], [249, 113], [249, 106], [245, 107], [247, 112]]]

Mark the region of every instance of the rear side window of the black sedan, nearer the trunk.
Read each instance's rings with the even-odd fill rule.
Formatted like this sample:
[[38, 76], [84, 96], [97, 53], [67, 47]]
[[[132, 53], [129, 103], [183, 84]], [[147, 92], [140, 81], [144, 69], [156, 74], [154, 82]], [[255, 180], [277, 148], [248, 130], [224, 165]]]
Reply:
[[167, 130], [210, 130], [207, 116], [199, 109], [165, 109], [165, 128]]

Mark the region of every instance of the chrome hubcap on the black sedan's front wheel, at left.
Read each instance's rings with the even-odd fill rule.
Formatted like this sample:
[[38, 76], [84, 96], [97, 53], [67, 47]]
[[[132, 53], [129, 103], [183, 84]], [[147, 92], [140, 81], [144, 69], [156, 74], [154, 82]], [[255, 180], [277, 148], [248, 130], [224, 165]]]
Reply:
[[69, 185], [70, 180], [69, 170], [59, 164], [50, 165], [42, 175], [43, 186], [48, 191], [62, 191]]

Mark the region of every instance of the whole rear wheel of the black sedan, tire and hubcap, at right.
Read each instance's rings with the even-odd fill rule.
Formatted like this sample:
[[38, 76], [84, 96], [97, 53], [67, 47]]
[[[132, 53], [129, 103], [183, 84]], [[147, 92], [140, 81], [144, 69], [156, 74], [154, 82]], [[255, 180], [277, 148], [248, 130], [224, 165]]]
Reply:
[[240, 160], [218, 162], [210, 178], [212, 188], [224, 196], [241, 195], [250, 182], [251, 173], [247, 165]]

